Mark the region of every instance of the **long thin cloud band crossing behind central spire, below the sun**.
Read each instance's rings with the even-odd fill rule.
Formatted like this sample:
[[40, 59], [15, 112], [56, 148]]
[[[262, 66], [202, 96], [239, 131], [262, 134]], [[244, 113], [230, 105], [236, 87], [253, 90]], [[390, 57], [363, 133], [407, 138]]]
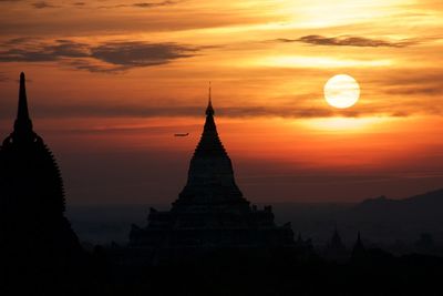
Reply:
[[[7, 118], [4, 110], [9, 110], [6, 103], [0, 105], [0, 118]], [[12, 108], [12, 106], [11, 106]], [[220, 106], [216, 108], [216, 115], [223, 118], [246, 119], [246, 118], [285, 118], [285, 119], [320, 119], [320, 118], [362, 118], [362, 116], [395, 116], [403, 118], [415, 113], [418, 110], [400, 110], [392, 106], [360, 106], [354, 110], [332, 110], [329, 108], [302, 108], [302, 106]], [[34, 105], [33, 116], [35, 118], [200, 118], [205, 109], [202, 105], [183, 106], [158, 106], [145, 104], [99, 104], [79, 103], [60, 104], [40, 103]], [[435, 110], [433, 113], [437, 112]]]

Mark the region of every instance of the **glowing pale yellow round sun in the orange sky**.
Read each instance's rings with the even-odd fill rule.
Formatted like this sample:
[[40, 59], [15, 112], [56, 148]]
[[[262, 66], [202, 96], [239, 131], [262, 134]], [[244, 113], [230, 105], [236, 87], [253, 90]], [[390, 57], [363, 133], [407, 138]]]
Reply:
[[359, 98], [360, 85], [350, 75], [334, 75], [324, 84], [324, 99], [331, 106], [347, 109], [353, 106]]

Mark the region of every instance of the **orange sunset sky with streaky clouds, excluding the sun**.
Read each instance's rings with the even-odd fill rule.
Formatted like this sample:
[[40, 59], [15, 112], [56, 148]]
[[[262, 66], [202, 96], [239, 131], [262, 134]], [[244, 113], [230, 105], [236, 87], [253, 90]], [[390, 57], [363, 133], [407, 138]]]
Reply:
[[442, 58], [441, 0], [0, 0], [0, 135], [24, 71], [69, 204], [169, 203], [212, 81], [248, 200], [406, 197], [443, 187]]

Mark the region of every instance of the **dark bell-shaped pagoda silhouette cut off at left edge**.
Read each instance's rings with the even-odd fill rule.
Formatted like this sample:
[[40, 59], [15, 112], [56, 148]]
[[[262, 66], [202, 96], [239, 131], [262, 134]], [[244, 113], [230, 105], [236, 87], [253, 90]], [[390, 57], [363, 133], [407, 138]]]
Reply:
[[63, 264], [81, 253], [64, 217], [59, 166], [34, 133], [28, 112], [24, 74], [13, 132], [0, 146], [0, 256], [2, 264]]

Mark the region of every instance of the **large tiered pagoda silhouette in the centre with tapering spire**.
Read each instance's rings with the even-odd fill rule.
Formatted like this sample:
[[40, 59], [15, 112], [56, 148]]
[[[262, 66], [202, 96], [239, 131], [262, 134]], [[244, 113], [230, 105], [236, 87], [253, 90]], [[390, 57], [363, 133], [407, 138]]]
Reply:
[[258, 210], [238, 188], [222, 144], [210, 100], [188, 178], [171, 211], [151, 208], [148, 224], [133, 225], [132, 248], [238, 248], [293, 246], [290, 224], [277, 226], [271, 206]]

